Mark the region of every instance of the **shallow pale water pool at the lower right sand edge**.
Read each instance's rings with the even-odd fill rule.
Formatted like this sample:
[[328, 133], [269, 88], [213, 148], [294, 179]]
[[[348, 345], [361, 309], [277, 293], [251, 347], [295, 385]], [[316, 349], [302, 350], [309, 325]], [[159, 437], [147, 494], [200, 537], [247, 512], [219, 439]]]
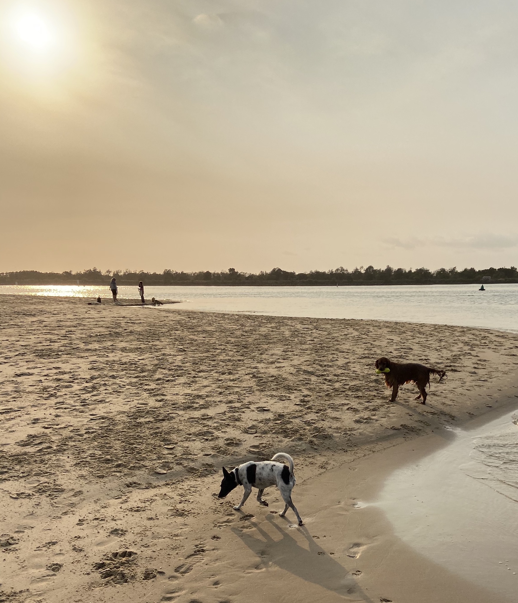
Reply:
[[446, 447], [392, 473], [374, 503], [403, 541], [511, 601], [518, 598], [514, 417], [455, 431]]

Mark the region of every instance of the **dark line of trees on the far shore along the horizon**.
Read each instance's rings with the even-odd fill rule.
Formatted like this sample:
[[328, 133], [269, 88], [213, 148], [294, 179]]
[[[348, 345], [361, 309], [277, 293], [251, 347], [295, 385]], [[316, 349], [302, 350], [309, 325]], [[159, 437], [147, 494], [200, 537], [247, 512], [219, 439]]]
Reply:
[[354, 270], [336, 268], [335, 270], [312, 270], [308, 273], [295, 273], [281, 268], [273, 268], [270, 272], [261, 271], [259, 274], [239, 272], [235, 268], [221, 272], [200, 271], [183, 272], [164, 270], [162, 273], [148, 273], [132, 270], [106, 270], [90, 268], [82, 272], [72, 273], [71, 270], [62, 273], [38, 272], [22, 270], [18, 272], [0, 273], [0, 285], [108, 285], [115, 277], [118, 285], [136, 285], [140, 280], [145, 285], [252, 285], [252, 286], [289, 286], [289, 285], [447, 285], [481, 283], [484, 277], [490, 277], [491, 282], [517, 283], [518, 271], [511, 268], [367, 268], [359, 267]]

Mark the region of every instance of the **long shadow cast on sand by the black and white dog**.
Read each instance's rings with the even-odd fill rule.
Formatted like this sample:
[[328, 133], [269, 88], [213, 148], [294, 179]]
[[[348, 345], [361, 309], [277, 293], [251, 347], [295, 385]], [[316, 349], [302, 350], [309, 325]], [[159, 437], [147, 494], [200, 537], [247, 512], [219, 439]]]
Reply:
[[[306, 526], [296, 530], [290, 529], [288, 523], [279, 526], [271, 516], [267, 517], [266, 521], [271, 528], [269, 531], [276, 531], [280, 535], [278, 540], [271, 537], [257, 523], [253, 523], [253, 526], [259, 532], [259, 537], [251, 530], [232, 528], [232, 531], [264, 564], [280, 567], [306, 582], [318, 584], [338, 595], [355, 601], [373, 603], [373, 599], [358, 586], [355, 576], [317, 545]], [[291, 534], [302, 535], [308, 541], [309, 548], [301, 546]]]

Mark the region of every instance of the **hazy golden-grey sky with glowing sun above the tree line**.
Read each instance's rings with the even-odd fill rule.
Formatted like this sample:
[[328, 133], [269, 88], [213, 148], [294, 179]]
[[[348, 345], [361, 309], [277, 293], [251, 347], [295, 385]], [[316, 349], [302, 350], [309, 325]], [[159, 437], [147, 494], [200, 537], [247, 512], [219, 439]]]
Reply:
[[0, 271], [518, 262], [511, 1], [0, 0]]

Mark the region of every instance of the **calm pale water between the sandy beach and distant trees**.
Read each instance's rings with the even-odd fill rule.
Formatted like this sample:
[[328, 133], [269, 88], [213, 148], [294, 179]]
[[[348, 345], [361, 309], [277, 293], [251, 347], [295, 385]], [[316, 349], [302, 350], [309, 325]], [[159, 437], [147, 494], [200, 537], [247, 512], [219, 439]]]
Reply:
[[[371, 318], [458, 324], [518, 332], [518, 285], [352, 287], [146, 287], [147, 298], [184, 300], [183, 308], [313, 318]], [[0, 286], [0, 294], [111, 298], [107, 286]], [[136, 286], [119, 297], [138, 299]], [[178, 307], [178, 306], [175, 306]]]

